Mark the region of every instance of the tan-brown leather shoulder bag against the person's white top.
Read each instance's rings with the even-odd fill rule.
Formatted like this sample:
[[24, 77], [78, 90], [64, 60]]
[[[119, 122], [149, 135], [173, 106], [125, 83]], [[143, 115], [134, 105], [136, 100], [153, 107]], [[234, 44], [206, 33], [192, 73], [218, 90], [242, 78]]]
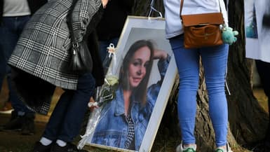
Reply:
[[182, 15], [184, 0], [181, 0], [180, 18], [184, 28], [184, 48], [219, 46], [223, 43], [220, 25], [224, 24], [221, 8], [219, 13]]

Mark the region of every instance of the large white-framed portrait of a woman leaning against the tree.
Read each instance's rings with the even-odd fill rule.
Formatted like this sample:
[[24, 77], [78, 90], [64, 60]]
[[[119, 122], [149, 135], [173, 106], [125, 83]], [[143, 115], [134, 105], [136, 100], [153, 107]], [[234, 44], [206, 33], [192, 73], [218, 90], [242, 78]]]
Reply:
[[107, 72], [114, 97], [90, 113], [84, 146], [151, 151], [177, 75], [165, 37], [163, 18], [128, 16]]

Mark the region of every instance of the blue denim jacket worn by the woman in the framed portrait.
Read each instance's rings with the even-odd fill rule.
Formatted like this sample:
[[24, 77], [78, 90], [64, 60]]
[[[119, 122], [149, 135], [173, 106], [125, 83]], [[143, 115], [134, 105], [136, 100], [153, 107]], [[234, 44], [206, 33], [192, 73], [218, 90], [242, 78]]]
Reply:
[[[147, 104], [145, 106], [142, 106], [140, 101], [135, 101], [134, 96], [131, 97], [130, 116], [135, 125], [135, 149], [133, 149], [135, 151], [139, 151], [140, 145], [142, 144], [142, 139], [154, 109], [154, 104], [156, 103], [163, 78], [166, 74], [169, 60], [158, 61], [161, 80], [147, 89]], [[128, 123], [124, 113], [123, 101], [123, 90], [121, 86], [119, 86], [118, 90], [116, 90], [116, 97], [112, 102], [105, 104], [102, 109], [100, 121], [93, 134], [92, 143], [128, 148], [125, 147], [125, 142], [128, 139]]]

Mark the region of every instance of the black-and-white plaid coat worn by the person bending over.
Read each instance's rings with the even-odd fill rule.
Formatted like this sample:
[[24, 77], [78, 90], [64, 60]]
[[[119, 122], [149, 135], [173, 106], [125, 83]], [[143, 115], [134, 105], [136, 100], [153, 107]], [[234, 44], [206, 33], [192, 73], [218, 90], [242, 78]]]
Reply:
[[[40, 96], [39, 98], [32, 97], [32, 99], [22, 97], [22, 100], [29, 102], [28, 105], [30, 104], [30, 106], [33, 106], [33, 103], [36, 102], [34, 100], [38, 100], [38, 104], [34, 103], [34, 111], [39, 113], [48, 112], [50, 97], [53, 95], [53, 87], [58, 86], [68, 90], [76, 90], [79, 76], [73, 74], [67, 68], [70, 59], [69, 48], [72, 46], [67, 27], [67, 13], [71, 6], [72, 0], [50, 0], [36, 11], [29, 22], [27, 22], [27, 25], [25, 25], [17, 46], [15, 46], [15, 50], [8, 60], [8, 64], [13, 69], [15, 67], [15, 69], [18, 69], [17, 71], [23, 71], [23, 73], [28, 74], [17, 76], [22, 79], [20, 81], [22, 86], [16, 87], [22, 91], [19, 93], [21, 97], [27, 87], [32, 89], [32, 92], [25, 92], [25, 95], [31, 93], [32, 96]], [[97, 11], [100, 12], [102, 9], [100, 0], [77, 1], [72, 13], [72, 25], [74, 32], [78, 34], [76, 37], [79, 38], [79, 41], [83, 40], [87, 31], [93, 31], [94, 25], [97, 24], [94, 17]], [[95, 64], [94, 60], [93, 62]], [[30, 88], [27, 83], [33, 83], [36, 78], [53, 85], [53, 87], [46, 83], [35, 81], [35, 84]], [[46, 84], [44, 85], [45, 87], [43, 84]], [[39, 87], [41, 90], [35, 87]], [[50, 91], [46, 90], [46, 88], [50, 88]], [[39, 90], [40, 93], [36, 90]], [[35, 95], [35, 93], [39, 94]], [[49, 96], [45, 94], [49, 94]]]

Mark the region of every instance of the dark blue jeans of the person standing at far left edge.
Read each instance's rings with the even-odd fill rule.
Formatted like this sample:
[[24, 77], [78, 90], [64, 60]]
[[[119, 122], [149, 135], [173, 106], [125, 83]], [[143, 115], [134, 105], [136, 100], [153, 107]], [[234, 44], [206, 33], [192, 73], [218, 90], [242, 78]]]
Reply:
[[22, 29], [30, 19], [29, 15], [20, 17], [4, 17], [0, 26], [0, 86], [2, 86], [4, 76], [7, 74], [9, 100], [13, 109], [18, 112], [32, 113], [24, 103], [18, 98], [11, 85], [11, 68], [7, 65], [8, 58], [16, 46]]

